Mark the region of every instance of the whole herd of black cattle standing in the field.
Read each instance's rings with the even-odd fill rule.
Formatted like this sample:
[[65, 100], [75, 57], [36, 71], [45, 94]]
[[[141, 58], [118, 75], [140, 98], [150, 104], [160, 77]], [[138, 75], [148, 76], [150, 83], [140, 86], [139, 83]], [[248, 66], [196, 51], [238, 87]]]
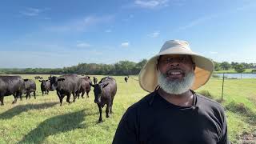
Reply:
[[[76, 98], [84, 98], [86, 93], [89, 98], [89, 92], [91, 86], [94, 87], [94, 102], [98, 105], [100, 113], [98, 122], [102, 122], [102, 108], [106, 105], [106, 118], [109, 118], [109, 114], [112, 113], [112, 105], [114, 95], [117, 92], [117, 83], [114, 78], [105, 77], [100, 82], [96, 77], [93, 77], [94, 84], [90, 80], [89, 76], [81, 77], [77, 74], [64, 74], [62, 76], [50, 76], [47, 80], [43, 80], [42, 77], [36, 76], [35, 79], [39, 79], [41, 82], [42, 95], [49, 94], [49, 91], [56, 90], [60, 106], [62, 106], [62, 100], [65, 96], [66, 102], [70, 102], [71, 94], [73, 95], [73, 102]], [[128, 77], [125, 77], [125, 82], [128, 82]], [[26, 94], [26, 99], [30, 98], [30, 94], [34, 94], [36, 98], [36, 83], [32, 79], [22, 79], [20, 76], [0, 76], [0, 102], [4, 105], [3, 99], [5, 96], [14, 95], [13, 103], [17, 102], [17, 99], [22, 100], [22, 94]]]

